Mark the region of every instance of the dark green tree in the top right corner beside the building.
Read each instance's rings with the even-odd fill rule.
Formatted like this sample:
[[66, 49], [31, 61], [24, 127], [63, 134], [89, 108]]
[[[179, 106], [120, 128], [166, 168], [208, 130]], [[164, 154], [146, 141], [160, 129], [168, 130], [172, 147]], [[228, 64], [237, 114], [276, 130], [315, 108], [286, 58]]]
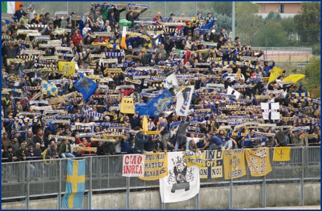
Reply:
[[321, 35], [321, 2], [302, 3], [302, 12], [294, 16], [295, 29], [302, 43], [320, 41]]

